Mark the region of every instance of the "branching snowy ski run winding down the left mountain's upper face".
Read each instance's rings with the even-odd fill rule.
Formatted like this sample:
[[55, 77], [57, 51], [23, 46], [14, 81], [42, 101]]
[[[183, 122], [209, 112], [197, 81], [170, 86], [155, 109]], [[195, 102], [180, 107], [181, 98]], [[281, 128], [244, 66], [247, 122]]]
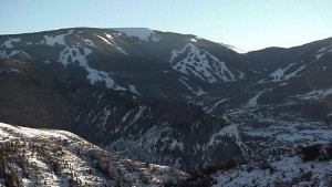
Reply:
[[[83, 48], [83, 53], [81, 53], [80, 49], [76, 46], [65, 46], [65, 49], [60, 53], [58, 62], [61, 62], [64, 66], [70, 63], [79, 62], [79, 65], [89, 73], [86, 79], [90, 80], [91, 84], [104, 81], [107, 89], [125, 91], [125, 87], [114, 82], [114, 80], [110, 76], [110, 73], [97, 71], [89, 65], [86, 56], [91, 53], [92, 50], [87, 48]], [[69, 61], [69, 59], [71, 59], [71, 61]]]

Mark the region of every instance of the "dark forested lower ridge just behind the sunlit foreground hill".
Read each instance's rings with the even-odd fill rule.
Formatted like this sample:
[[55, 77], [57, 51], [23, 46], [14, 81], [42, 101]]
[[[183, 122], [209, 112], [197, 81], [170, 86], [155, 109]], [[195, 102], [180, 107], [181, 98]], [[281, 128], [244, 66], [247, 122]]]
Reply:
[[[209, 137], [227, 124], [193, 104], [137, 101], [131, 93], [85, 82], [49, 87], [37, 76], [39, 71], [30, 72], [20, 63], [7, 60], [0, 73], [3, 122], [71, 131], [132, 158], [188, 170], [218, 162], [221, 150], [220, 159], [240, 157], [231, 138], [209, 144]], [[187, 159], [193, 153], [195, 158]]]

